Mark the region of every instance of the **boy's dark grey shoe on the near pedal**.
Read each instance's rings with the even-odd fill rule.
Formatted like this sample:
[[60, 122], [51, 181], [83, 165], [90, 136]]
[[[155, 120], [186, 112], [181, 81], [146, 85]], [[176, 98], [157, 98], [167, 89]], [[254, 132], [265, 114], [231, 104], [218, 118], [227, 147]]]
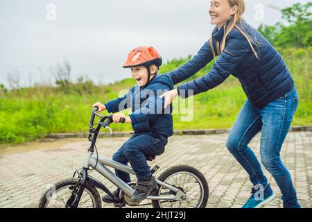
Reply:
[[140, 203], [157, 187], [157, 182], [153, 176], [146, 179], [137, 180], [137, 186], [135, 187], [135, 193], [130, 198], [131, 201]]

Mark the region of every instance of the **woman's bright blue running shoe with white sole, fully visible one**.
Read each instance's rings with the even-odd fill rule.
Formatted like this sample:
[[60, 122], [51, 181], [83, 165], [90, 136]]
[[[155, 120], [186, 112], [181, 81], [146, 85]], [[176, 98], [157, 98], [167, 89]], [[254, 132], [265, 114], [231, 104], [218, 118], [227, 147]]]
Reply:
[[259, 208], [261, 205], [272, 201], [276, 196], [270, 184], [267, 184], [263, 189], [254, 189], [254, 187], [252, 187], [251, 193], [252, 195], [241, 208]]

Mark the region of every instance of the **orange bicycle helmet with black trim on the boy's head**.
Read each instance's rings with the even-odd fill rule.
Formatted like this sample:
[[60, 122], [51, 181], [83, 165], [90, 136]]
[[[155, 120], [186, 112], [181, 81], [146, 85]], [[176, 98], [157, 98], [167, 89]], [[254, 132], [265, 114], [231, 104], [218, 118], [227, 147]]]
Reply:
[[152, 46], [139, 46], [130, 51], [125, 64], [123, 64], [123, 68], [138, 67], [141, 65], [148, 69], [147, 85], [150, 82], [150, 65], [156, 65], [159, 69], [162, 65], [162, 57]]

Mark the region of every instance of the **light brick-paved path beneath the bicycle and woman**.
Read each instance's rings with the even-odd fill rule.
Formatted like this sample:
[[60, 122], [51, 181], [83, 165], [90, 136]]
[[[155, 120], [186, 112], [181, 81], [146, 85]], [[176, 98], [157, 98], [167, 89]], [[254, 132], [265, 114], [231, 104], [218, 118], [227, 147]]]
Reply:
[[[190, 164], [204, 173], [209, 185], [207, 207], [241, 207], [250, 196], [251, 183], [243, 168], [225, 148], [227, 135], [185, 135], [169, 139], [166, 152], [150, 163], [159, 164], [162, 171], [176, 164]], [[112, 157], [114, 151], [128, 139], [116, 137], [98, 139], [98, 152]], [[87, 139], [60, 139], [36, 142], [0, 149], [0, 207], [37, 207], [46, 185], [71, 177], [81, 167]], [[259, 135], [250, 143], [259, 157]], [[281, 158], [291, 172], [302, 207], [312, 206], [312, 133], [293, 132], [286, 137]], [[277, 198], [265, 207], [282, 207], [275, 180], [264, 170]], [[97, 172], [91, 173], [111, 190]], [[103, 192], [100, 192], [101, 195]], [[103, 207], [112, 207], [104, 205]]]

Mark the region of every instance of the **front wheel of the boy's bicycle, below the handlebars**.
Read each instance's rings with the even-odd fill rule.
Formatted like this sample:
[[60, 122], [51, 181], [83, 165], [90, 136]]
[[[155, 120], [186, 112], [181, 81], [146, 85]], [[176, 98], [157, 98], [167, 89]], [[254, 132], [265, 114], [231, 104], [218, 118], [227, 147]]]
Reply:
[[[65, 208], [67, 200], [78, 183], [78, 178], [68, 178], [56, 182], [40, 198], [39, 208]], [[101, 196], [95, 187], [85, 186], [78, 208], [101, 208]]]

